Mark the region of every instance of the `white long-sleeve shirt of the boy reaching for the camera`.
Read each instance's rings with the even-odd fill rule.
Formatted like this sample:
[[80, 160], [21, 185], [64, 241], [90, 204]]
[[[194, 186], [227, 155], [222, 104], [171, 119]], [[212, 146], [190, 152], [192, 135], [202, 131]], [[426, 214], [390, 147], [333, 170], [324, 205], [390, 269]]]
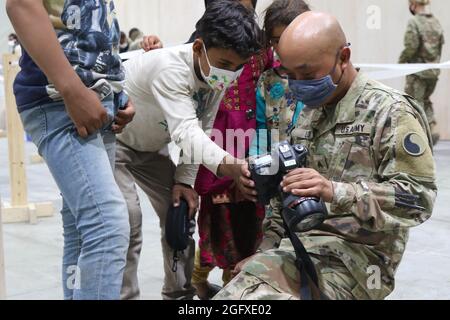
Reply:
[[118, 136], [130, 148], [158, 152], [170, 142], [182, 150], [175, 181], [193, 185], [198, 165], [213, 173], [228, 155], [208, 133], [224, 92], [211, 90], [194, 71], [192, 44], [159, 49], [124, 63], [125, 90], [134, 120]]

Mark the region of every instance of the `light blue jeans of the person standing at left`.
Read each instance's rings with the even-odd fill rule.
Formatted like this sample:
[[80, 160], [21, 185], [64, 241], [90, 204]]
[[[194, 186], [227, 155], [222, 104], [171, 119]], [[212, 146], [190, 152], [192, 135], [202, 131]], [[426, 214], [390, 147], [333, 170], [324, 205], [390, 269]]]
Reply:
[[[113, 101], [103, 104], [113, 119]], [[62, 102], [26, 110], [21, 118], [63, 197], [64, 298], [119, 299], [130, 226], [113, 175], [115, 135], [105, 126], [79, 137]]]

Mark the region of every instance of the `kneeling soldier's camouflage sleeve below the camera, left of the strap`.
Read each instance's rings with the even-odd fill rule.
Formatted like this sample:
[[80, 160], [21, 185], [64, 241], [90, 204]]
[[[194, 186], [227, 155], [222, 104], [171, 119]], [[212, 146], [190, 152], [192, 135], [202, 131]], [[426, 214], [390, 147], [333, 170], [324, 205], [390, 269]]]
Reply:
[[266, 217], [263, 223], [263, 240], [259, 250], [266, 251], [278, 248], [281, 240], [285, 237], [281, 210], [281, 199], [279, 197], [273, 198], [266, 208]]

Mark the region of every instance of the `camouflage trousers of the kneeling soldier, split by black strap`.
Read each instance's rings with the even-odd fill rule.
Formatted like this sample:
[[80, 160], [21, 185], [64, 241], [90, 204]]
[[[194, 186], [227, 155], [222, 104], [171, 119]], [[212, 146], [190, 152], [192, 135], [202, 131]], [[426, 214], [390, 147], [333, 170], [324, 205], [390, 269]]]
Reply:
[[[311, 255], [319, 289], [331, 300], [368, 300], [346, 266], [334, 257]], [[252, 259], [214, 300], [300, 300], [294, 251], [269, 250]]]

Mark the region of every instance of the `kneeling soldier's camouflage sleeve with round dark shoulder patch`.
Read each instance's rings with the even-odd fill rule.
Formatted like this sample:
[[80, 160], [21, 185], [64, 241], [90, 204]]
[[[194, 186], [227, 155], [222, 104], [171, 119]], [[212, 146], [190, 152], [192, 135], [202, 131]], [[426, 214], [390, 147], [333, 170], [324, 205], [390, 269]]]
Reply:
[[406, 102], [386, 108], [377, 121], [372, 150], [380, 182], [333, 182], [332, 212], [352, 213], [372, 232], [414, 227], [431, 216], [435, 164], [422, 116]]

